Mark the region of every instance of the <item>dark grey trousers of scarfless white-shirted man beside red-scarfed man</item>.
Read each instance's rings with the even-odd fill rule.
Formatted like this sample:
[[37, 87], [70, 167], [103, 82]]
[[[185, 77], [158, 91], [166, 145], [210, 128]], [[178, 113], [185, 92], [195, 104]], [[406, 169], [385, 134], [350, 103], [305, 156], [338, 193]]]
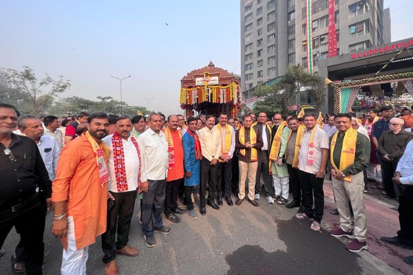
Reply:
[[162, 213], [165, 204], [167, 179], [148, 179], [148, 183], [148, 192], [142, 193], [140, 218], [142, 219], [143, 234], [151, 236], [153, 235], [153, 228], [162, 227]]

